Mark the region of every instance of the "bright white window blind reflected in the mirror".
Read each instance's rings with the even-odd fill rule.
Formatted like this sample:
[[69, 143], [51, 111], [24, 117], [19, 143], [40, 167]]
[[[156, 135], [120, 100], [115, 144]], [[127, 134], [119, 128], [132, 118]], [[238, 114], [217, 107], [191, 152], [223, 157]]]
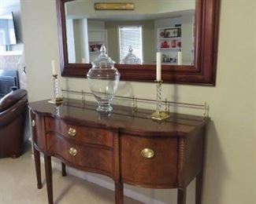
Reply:
[[132, 46], [132, 53], [143, 62], [142, 26], [119, 27], [120, 60], [128, 54], [129, 46]]

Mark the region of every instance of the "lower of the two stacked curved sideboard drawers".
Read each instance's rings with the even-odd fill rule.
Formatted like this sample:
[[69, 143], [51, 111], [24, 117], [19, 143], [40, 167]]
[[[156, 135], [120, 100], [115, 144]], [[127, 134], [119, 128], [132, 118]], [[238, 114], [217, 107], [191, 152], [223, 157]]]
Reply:
[[112, 175], [113, 151], [71, 143], [65, 137], [55, 133], [47, 133], [46, 139], [47, 151], [50, 155], [63, 158], [80, 169], [93, 169], [106, 175]]

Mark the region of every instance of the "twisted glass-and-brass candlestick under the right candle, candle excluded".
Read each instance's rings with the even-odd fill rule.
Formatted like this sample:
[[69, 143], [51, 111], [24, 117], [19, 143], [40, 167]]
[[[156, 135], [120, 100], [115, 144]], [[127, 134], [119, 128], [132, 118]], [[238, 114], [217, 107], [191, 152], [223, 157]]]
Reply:
[[150, 115], [150, 118], [158, 121], [165, 120], [166, 118], [169, 118], [170, 115], [165, 112], [161, 111], [161, 83], [162, 80], [160, 81], [155, 81], [157, 82], [157, 101], [156, 101], [156, 111]]

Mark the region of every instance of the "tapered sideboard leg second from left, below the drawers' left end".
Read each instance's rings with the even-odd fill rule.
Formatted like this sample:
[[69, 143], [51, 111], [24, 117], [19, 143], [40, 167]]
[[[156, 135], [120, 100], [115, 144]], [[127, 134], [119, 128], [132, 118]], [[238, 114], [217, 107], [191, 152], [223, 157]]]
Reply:
[[51, 169], [51, 158], [50, 156], [44, 156], [44, 165], [46, 169], [46, 186], [47, 186], [47, 195], [49, 204], [54, 204], [53, 196], [53, 178], [52, 178], [52, 169]]

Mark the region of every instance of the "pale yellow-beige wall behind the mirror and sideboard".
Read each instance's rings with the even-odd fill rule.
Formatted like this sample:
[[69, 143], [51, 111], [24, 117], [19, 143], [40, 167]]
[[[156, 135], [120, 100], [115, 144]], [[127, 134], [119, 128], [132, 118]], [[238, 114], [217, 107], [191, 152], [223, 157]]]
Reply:
[[[20, 1], [28, 72], [29, 100], [52, 96], [52, 59], [58, 60], [54, 0]], [[221, 24], [215, 87], [164, 85], [173, 100], [210, 104], [203, 204], [255, 204], [255, 17], [254, 0], [221, 0]], [[253, 23], [254, 25], [253, 25]], [[61, 78], [61, 86], [87, 89], [85, 79]], [[122, 82], [119, 93], [154, 98], [154, 84]], [[176, 190], [134, 188], [162, 202], [174, 203]], [[194, 204], [195, 183], [187, 191]]]

